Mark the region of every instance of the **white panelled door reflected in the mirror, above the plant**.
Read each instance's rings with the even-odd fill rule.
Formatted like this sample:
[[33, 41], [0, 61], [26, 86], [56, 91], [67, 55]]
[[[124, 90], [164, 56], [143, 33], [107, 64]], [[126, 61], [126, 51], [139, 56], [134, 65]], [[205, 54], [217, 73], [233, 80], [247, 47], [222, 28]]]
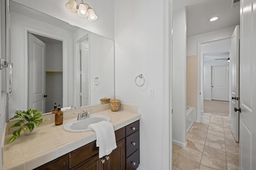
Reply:
[[45, 43], [28, 33], [28, 108], [45, 112]]

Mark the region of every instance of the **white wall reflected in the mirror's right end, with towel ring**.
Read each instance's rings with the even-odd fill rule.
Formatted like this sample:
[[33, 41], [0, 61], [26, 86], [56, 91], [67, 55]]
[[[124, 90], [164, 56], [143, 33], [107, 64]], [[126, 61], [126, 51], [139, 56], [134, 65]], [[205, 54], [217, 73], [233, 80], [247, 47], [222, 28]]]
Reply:
[[[99, 50], [100, 49], [100, 50]], [[114, 99], [114, 42], [90, 32], [90, 102], [100, 104], [100, 99]], [[94, 79], [98, 77], [98, 85]]]

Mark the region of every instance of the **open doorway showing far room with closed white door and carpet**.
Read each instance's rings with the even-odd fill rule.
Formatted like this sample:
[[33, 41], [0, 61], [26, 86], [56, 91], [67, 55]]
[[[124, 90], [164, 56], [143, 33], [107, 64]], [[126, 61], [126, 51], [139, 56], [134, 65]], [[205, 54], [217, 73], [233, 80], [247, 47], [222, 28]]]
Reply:
[[201, 45], [204, 113], [229, 116], [230, 47], [230, 38]]

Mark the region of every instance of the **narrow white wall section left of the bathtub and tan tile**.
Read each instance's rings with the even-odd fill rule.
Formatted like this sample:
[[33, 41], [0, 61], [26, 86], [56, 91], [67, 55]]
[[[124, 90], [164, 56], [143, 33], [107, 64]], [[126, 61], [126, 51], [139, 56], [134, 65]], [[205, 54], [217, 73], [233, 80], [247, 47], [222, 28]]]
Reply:
[[186, 9], [173, 14], [172, 142], [186, 147]]

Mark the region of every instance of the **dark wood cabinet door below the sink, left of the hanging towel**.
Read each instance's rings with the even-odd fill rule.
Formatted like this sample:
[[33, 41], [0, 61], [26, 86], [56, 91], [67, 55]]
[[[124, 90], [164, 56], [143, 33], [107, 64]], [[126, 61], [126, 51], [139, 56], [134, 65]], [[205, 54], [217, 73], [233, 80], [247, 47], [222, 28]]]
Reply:
[[92, 156], [81, 164], [72, 168], [72, 170], [103, 170], [103, 164], [100, 162], [99, 155]]

